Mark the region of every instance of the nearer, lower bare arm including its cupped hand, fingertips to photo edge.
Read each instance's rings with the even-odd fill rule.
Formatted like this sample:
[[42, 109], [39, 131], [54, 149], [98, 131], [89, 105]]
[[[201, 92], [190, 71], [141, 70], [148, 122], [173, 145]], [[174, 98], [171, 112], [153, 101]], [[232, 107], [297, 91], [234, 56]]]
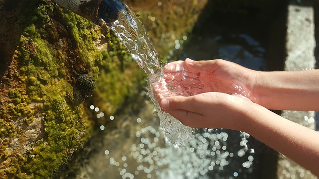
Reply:
[[160, 105], [186, 126], [247, 132], [319, 176], [319, 132], [247, 98], [207, 92], [190, 97], [166, 97]]

